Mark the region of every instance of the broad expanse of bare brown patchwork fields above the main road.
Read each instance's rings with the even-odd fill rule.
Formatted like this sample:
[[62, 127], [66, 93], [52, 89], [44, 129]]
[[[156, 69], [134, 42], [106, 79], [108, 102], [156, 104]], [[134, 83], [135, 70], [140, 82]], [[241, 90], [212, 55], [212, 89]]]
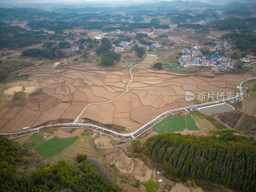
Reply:
[[[148, 55], [148, 62], [136, 66], [140, 71], [132, 71], [130, 92], [111, 103], [89, 106], [81, 118], [126, 127], [132, 132], [165, 110], [194, 105], [192, 101], [184, 100], [186, 91], [193, 92], [196, 98], [197, 92], [236, 92], [236, 86], [241, 81], [252, 78], [250, 74], [213, 76], [211, 71], [205, 72], [213, 76], [207, 78], [148, 69], [151, 61], [156, 59], [157, 56]], [[0, 111], [0, 132], [22, 131], [23, 127], [37, 126], [58, 118], [74, 120], [87, 104], [106, 102], [124, 92], [126, 84], [123, 81], [130, 80], [128, 74], [128, 69], [113, 72], [66, 70], [52, 74], [32, 74], [29, 77], [32, 81], [28, 83], [35, 81], [43, 88], [43, 92], [25, 100], [11, 101], [4, 106]], [[10, 84], [25, 86], [22, 81]], [[8, 89], [7, 85], [1, 87]], [[4, 94], [1, 91], [0, 98]]]

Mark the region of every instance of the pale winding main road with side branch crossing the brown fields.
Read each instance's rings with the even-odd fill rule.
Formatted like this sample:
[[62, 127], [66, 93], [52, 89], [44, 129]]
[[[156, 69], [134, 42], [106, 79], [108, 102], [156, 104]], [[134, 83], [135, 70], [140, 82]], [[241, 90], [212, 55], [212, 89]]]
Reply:
[[[144, 60], [146, 60], [148, 57], [148, 53], [147, 53], [147, 56], [145, 57]], [[143, 61], [144, 61], [143, 60]], [[142, 61], [142, 62], [143, 62]], [[140, 63], [142, 63], [140, 62]], [[139, 65], [140, 63], [136, 64], [136, 65]], [[33, 133], [33, 132], [39, 132], [39, 131], [44, 131], [46, 129], [52, 129], [52, 128], [81, 128], [81, 129], [84, 129], [84, 128], [89, 128], [89, 129], [92, 129], [94, 131], [98, 131], [98, 132], [101, 132], [101, 133], [104, 133], [106, 135], [109, 135], [111, 137], [114, 137], [114, 138], [118, 138], [118, 139], [121, 139], [121, 140], [132, 140], [134, 138], [137, 138], [139, 137], [142, 133], [146, 132], [149, 128], [151, 128], [153, 125], [155, 125], [156, 123], [158, 123], [160, 120], [162, 120], [163, 118], [169, 116], [170, 114], [176, 114], [176, 113], [180, 113], [180, 112], [184, 112], [184, 111], [189, 111], [190, 108], [193, 108], [193, 107], [196, 107], [196, 108], [202, 108], [202, 107], [209, 107], [209, 106], [213, 106], [213, 105], [220, 105], [220, 104], [223, 104], [225, 103], [225, 101], [228, 101], [230, 99], [235, 99], [235, 98], [229, 98], [229, 99], [224, 99], [224, 100], [218, 100], [218, 101], [212, 101], [212, 102], [209, 102], [209, 103], [204, 103], [204, 104], [199, 104], [199, 105], [194, 105], [194, 106], [189, 106], [189, 107], [184, 107], [184, 108], [178, 108], [178, 109], [172, 109], [170, 111], [165, 111], [164, 113], [160, 114], [159, 116], [155, 117], [154, 119], [152, 119], [151, 121], [149, 121], [148, 123], [144, 124], [143, 126], [141, 126], [139, 129], [137, 129], [136, 131], [134, 132], [131, 132], [131, 133], [118, 133], [118, 132], [115, 132], [115, 131], [112, 131], [112, 130], [109, 130], [109, 129], [106, 129], [104, 127], [100, 127], [98, 125], [92, 125], [92, 124], [83, 124], [83, 123], [79, 123], [78, 122], [78, 119], [80, 118], [80, 116], [84, 113], [85, 109], [90, 106], [90, 105], [93, 105], [93, 104], [101, 104], [101, 103], [109, 103], [109, 102], [112, 102], [113, 100], [116, 100], [117, 98], [119, 98], [120, 96], [122, 96], [124, 93], [128, 92], [129, 91], [129, 84], [131, 84], [132, 80], [133, 80], [133, 75], [132, 75], [132, 68], [135, 67], [136, 65], [132, 66], [130, 68], [130, 74], [131, 74], [131, 80], [129, 81], [129, 83], [126, 85], [126, 91], [121, 93], [120, 95], [118, 95], [117, 97], [115, 97], [114, 99], [112, 100], [109, 100], [109, 101], [106, 101], [106, 102], [98, 102], [98, 103], [90, 103], [88, 105], [86, 105], [83, 110], [78, 114], [78, 116], [76, 117], [75, 121], [73, 123], [64, 123], [64, 124], [53, 124], [53, 125], [46, 125], [46, 126], [41, 126], [41, 127], [36, 127], [36, 128], [32, 128], [32, 129], [29, 129], [29, 130], [26, 130], [26, 131], [21, 131], [21, 132], [15, 132], [15, 133], [0, 133], [0, 136], [2, 137], [13, 137], [12, 139], [14, 138], [17, 138], [17, 137], [20, 137], [20, 136], [23, 136], [23, 135], [27, 135], [27, 134], [30, 134], [30, 133]], [[244, 80], [242, 81], [240, 84], [239, 84], [239, 87], [240, 87], [240, 93], [243, 94], [243, 97], [246, 96], [246, 91], [245, 91], [245, 86], [247, 83], [249, 82], [252, 82], [252, 81], [255, 81], [256, 78], [252, 78], [252, 79], [247, 79], [247, 80]], [[188, 112], [189, 113], [189, 112]]]

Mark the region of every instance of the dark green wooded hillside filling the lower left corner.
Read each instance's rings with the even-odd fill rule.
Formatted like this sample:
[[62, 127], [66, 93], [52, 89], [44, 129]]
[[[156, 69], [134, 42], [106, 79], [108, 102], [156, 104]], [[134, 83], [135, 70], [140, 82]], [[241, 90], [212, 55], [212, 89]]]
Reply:
[[100, 176], [95, 167], [86, 161], [85, 155], [77, 155], [76, 164], [59, 161], [53, 166], [45, 165], [34, 171], [18, 171], [19, 165], [27, 164], [23, 157], [27, 148], [0, 138], [0, 188], [3, 192], [119, 192]]

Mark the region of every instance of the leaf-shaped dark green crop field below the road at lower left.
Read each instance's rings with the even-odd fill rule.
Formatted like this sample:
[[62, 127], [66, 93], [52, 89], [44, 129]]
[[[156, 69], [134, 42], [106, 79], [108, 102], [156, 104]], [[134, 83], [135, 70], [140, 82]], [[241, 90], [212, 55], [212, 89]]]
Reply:
[[55, 136], [52, 139], [44, 141], [35, 149], [42, 157], [49, 158], [60, 154], [65, 148], [72, 145], [77, 139], [78, 136], [65, 139], [60, 139]]

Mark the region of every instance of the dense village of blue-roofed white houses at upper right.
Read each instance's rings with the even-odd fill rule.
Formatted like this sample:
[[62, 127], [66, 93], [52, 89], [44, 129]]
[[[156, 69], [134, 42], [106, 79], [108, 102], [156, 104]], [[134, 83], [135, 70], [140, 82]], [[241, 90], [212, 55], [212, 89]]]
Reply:
[[[215, 43], [219, 44], [219, 42]], [[220, 61], [221, 64], [228, 65], [230, 67], [233, 67], [235, 65], [236, 59], [232, 60], [231, 57], [224, 57], [219, 53], [203, 55], [200, 51], [200, 49], [202, 48], [202, 45], [194, 46], [193, 50], [184, 48], [182, 57], [180, 57], [179, 59], [180, 65], [184, 66], [184, 68], [194, 67], [195, 65], [215, 67], [217, 65], [217, 61]], [[214, 46], [214, 50], [217, 50], [216, 48], [217, 47]], [[231, 46], [225, 46], [225, 48], [230, 50]], [[217, 66], [215, 70], [220, 71], [223, 69], [227, 69], [223, 65]]]

